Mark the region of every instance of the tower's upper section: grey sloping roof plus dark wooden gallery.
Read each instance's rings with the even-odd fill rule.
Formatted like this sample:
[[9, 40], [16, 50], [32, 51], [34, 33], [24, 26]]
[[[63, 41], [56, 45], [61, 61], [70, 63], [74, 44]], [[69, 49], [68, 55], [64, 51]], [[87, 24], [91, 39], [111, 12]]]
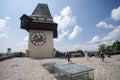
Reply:
[[[57, 23], [53, 22], [47, 4], [39, 3], [32, 15], [21, 16], [21, 28], [27, 31], [30, 30], [46, 30], [53, 31], [53, 38], [57, 37]], [[43, 20], [41, 20], [43, 19]]]

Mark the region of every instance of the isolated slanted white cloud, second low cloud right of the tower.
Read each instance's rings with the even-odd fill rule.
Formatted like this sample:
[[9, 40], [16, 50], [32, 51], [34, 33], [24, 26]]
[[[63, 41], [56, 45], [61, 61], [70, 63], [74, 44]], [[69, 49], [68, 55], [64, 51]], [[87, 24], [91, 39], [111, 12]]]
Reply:
[[83, 29], [80, 26], [75, 25], [73, 32], [71, 34], [69, 34], [69, 39], [70, 40], [75, 39], [76, 37], [78, 37], [78, 35], [81, 34], [82, 31], [83, 31]]

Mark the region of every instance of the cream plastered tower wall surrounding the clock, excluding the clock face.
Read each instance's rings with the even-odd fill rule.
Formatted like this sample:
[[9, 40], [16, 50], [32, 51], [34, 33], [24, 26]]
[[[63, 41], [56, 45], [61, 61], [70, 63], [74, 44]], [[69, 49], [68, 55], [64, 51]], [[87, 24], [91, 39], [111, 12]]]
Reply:
[[29, 36], [34, 32], [42, 32], [46, 36], [46, 42], [41, 46], [33, 45], [29, 39], [28, 51], [29, 57], [54, 57], [53, 31], [30, 30]]

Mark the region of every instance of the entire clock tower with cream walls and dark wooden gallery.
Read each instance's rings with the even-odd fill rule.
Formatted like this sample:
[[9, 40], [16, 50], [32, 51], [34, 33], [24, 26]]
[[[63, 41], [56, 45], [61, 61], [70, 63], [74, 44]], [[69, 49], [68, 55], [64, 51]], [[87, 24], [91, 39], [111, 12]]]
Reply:
[[47, 4], [39, 3], [29, 16], [21, 16], [21, 28], [29, 32], [29, 57], [53, 57], [53, 38], [57, 38], [57, 23], [53, 22]]

